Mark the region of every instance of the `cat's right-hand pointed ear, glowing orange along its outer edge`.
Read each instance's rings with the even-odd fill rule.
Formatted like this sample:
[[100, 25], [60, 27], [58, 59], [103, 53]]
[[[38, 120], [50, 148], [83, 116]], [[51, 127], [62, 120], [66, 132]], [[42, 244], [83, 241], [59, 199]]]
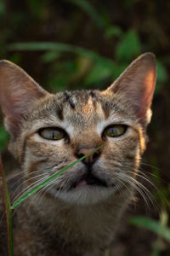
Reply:
[[156, 58], [152, 53], [140, 55], [107, 90], [130, 103], [142, 125], [150, 122], [150, 105], [156, 84]]

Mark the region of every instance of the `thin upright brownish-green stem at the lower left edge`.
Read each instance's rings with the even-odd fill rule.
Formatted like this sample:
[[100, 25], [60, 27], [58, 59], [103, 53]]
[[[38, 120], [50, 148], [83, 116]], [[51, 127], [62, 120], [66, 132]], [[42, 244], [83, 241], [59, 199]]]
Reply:
[[3, 171], [3, 162], [0, 154], [0, 172], [2, 176], [3, 181], [3, 202], [5, 207], [5, 215], [6, 215], [6, 221], [7, 221], [7, 232], [8, 232], [8, 255], [13, 256], [14, 250], [13, 250], [13, 218], [12, 218], [12, 209], [10, 207], [10, 199], [8, 195], [8, 188], [7, 183]]

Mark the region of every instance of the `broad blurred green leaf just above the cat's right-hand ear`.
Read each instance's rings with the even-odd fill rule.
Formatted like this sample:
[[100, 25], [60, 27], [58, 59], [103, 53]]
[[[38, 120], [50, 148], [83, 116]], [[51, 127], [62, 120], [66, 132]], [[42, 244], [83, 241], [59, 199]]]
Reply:
[[118, 61], [131, 61], [141, 52], [139, 35], [134, 30], [129, 30], [116, 45], [116, 58]]

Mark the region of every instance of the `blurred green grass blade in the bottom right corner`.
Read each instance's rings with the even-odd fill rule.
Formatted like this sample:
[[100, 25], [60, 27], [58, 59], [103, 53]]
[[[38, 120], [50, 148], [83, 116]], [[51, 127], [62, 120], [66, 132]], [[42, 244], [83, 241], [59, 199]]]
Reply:
[[155, 232], [158, 236], [170, 242], [170, 229], [154, 219], [135, 217], [130, 219], [130, 224], [138, 225], [147, 230]]

